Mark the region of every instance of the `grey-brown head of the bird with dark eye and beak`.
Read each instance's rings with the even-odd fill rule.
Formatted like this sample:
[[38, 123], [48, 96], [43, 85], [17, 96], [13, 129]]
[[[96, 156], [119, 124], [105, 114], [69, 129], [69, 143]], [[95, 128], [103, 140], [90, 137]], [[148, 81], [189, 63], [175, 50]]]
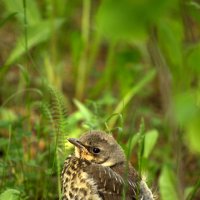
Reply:
[[120, 145], [103, 131], [90, 131], [79, 139], [69, 138], [68, 141], [75, 146], [75, 156], [78, 158], [108, 167], [125, 162]]

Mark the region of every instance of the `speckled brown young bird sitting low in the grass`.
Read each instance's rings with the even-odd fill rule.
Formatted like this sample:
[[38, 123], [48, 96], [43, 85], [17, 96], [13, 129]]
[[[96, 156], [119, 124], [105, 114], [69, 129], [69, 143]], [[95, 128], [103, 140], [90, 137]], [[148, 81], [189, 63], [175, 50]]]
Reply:
[[93, 130], [79, 139], [64, 161], [62, 200], [154, 200], [154, 195], [111, 134]]

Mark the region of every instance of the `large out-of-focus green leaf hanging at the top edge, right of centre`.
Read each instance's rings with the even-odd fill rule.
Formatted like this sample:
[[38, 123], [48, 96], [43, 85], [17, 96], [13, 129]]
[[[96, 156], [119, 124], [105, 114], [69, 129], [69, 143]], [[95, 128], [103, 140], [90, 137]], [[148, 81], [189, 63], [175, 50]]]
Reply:
[[176, 0], [104, 0], [97, 13], [97, 28], [109, 39], [144, 39], [149, 26], [174, 5]]

